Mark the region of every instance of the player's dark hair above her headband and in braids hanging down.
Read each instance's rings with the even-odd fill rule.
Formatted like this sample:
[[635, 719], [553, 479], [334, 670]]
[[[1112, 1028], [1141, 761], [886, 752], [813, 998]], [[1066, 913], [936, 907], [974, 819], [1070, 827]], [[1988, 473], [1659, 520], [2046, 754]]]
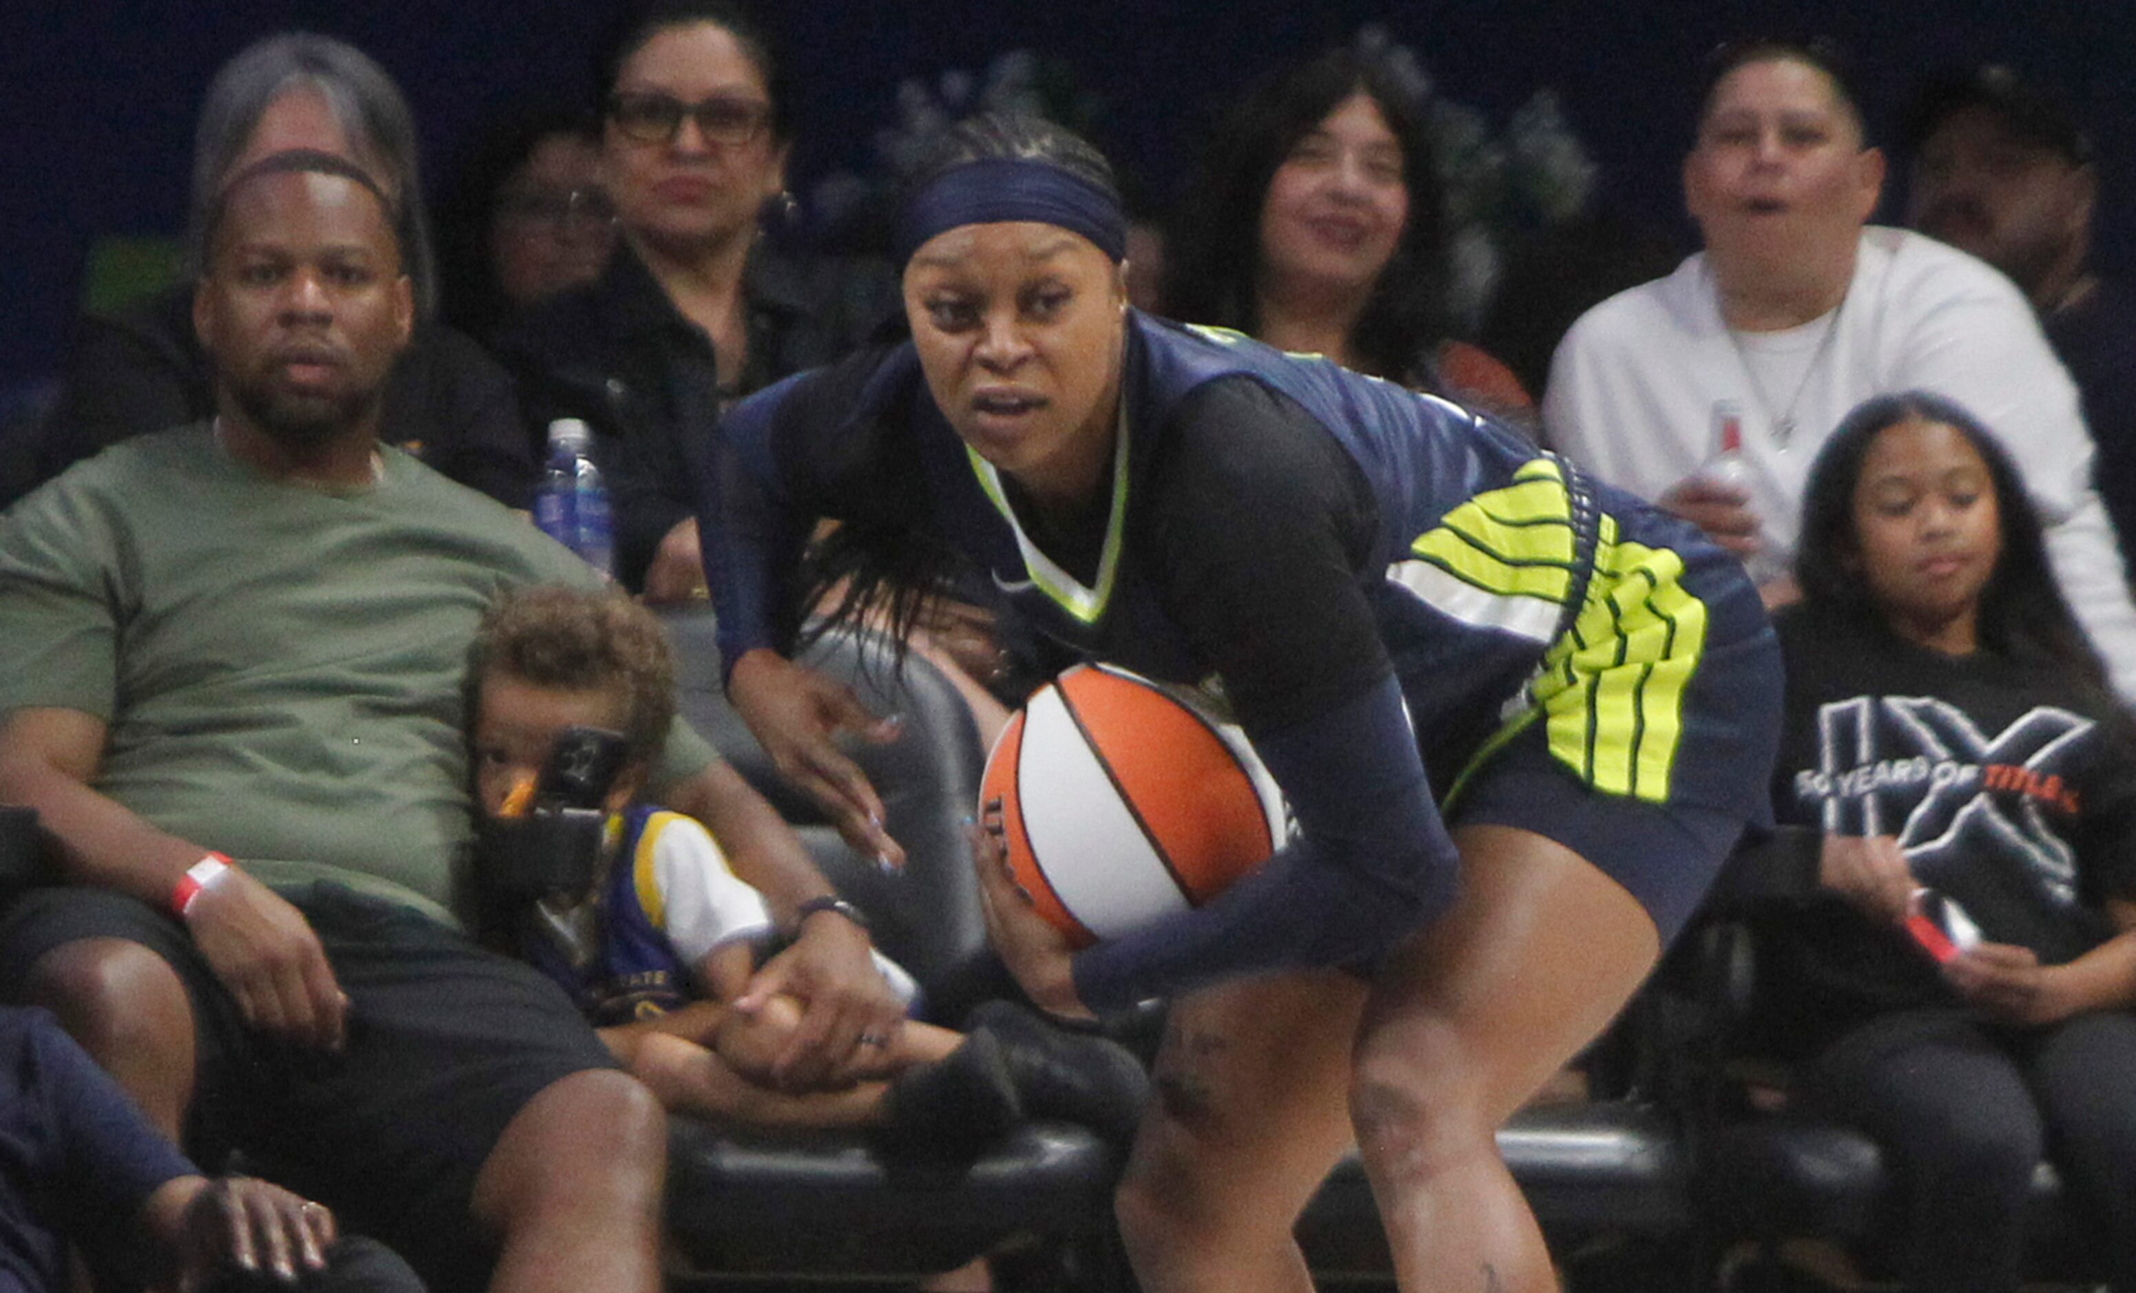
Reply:
[[[899, 207], [938, 175], [965, 162], [1023, 158], [1068, 171], [1117, 196], [1113, 166], [1083, 137], [1045, 117], [983, 113], [968, 117], [936, 141], [927, 160], [906, 183]], [[790, 610], [801, 646], [839, 625], [884, 623], [904, 661], [906, 640], [925, 619], [931, 602], [974, 587], [976, 570], [933, 527], [927, 514], [927, 482], [916, 452], [886, 454], [876, 497], [882, 512], [846, 518], [807, 561], [801, 604]], [[831, 600], [831, 610], [807, 625], [801, 614]]]

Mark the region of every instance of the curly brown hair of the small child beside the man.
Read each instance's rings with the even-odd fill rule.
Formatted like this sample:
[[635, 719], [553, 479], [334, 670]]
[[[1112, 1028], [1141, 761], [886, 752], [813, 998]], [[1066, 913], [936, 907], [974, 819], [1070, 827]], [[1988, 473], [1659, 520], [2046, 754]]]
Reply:
[[500, 672], [557, 691], [617, 691], [630, 762], [651, 762], [675, 721], [675, 655], [651, 610], [615, 589], [536, 585], [498, 597], [474, 636], [470, 689]]

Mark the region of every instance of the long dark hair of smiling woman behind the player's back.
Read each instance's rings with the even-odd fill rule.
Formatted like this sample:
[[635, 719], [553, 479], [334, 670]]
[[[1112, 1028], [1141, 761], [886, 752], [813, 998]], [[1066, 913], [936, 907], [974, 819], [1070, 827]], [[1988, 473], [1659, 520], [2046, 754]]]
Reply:
[[1262, 81], [1230, 111], [1166, 237], [1162, 314], [1250, 335], [1260, 331], [1254, 277], [1269, 181], [1290, 149], [1358, 92], [1378, 105], [1401, 143], [1410, 218], [1371, 286], [1350, 346], [1371, 373], [1412, 376], [1418, 356], [1446, 333], [1446, 198], [1425, 102], [1386, 51], [1373, 47], [1329, 49]]

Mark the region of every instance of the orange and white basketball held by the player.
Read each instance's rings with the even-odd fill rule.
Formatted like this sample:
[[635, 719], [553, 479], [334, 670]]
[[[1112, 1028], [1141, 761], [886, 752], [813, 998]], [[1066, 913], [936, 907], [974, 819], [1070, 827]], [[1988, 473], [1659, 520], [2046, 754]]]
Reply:
[[1198, 907], [1284, 845], [1275, 779], [1185, 693], [1081, 664], [1008, 719], [980, 783], [1038, 913], [1077, 947]]

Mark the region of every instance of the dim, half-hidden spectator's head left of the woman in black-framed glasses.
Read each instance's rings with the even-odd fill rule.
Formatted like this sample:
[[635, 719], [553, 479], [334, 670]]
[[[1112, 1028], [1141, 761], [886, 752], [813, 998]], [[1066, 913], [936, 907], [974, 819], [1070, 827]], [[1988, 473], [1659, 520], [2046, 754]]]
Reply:
[[438, 235], [444, 318], [470, 337], [594, 282], [615, 248], [615, 203], [592, 117], [540, 100], [485, 126], [438, 205]]

